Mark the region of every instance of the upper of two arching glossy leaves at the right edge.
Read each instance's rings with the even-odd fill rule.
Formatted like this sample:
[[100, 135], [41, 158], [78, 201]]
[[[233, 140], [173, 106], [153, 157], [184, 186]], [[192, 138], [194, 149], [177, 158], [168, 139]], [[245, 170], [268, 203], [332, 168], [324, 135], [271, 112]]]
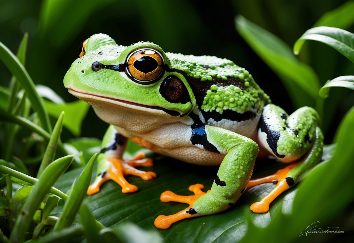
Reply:
[[294, 44], [295, 55], [300, 52], [305, 40], [316, 40], [329, 45], [354, 63], [354, 34], [347, 30], [323, 26], [308, 29]]

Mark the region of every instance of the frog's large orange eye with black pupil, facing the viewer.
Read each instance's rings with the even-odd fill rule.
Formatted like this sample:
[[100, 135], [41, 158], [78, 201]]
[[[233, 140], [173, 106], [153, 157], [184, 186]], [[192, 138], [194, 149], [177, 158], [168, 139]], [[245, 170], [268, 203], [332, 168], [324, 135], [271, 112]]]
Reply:
[[127, 76], [139, 84], [151, 84], [161, 77], [164, 71], [164, 57], [152, 48], [133, 51], [126, 60]]

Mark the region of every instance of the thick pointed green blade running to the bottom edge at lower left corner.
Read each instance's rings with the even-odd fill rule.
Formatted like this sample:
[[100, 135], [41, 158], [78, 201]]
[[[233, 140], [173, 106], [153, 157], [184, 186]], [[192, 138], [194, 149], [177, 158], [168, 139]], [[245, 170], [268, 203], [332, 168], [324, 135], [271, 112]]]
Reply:
[[73, 160], [73, 155], [65, 156], [55, 160], [47, 166], [43, 171], [32, 192], [29, 194], [26, 202], [23, 205], [22, 213], [18, 217], [15, 226], [11, 232], [10, 242], [23, 242], [25, 233], [27, 232], [35, 211], [38, 209], [40, 203], [45, 198], [50, 188], [59, 179], [59, 177], [68, 168]]

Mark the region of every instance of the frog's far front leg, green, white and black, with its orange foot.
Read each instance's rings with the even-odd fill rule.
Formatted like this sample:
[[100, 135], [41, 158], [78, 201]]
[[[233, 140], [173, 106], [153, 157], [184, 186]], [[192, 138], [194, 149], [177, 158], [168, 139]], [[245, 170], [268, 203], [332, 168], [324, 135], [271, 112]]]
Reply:
[[153, 166], [152, 159], [144, 159], [144, 153], [138, 153], [129, 160], [122, 159], [126, 145], [127, 138], [110, 125], [103, 137], [101, 152], [98, 154], [96, 179], [87, 190], [87, 194], [92, 195], [99, 192], [101, 185], [108, 180], [118, 183], [122, 187], [123, 193], [136, 192], [138, 187], [127, 182], [124, 176], [136, 175], [143, 180], [151, 180], [156, 177], [152, 171], [135, 169], [137, 166]]

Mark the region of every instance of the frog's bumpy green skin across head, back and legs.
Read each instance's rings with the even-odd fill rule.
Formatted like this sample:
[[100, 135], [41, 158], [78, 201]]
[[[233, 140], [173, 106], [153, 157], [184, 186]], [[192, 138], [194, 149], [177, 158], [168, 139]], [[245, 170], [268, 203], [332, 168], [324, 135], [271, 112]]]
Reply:
[[[141, 47], [149, 47], [161, 52], [165, 65], [169, 67], [169, 70], [166, 70], [164, 75], [153, 84], [134, 83], [124, 73], [114, 70], [102, 69], [99, 72], [91, 70], [94, 61], [100, 61], [105, 65], [125, 63], [129, 53]], [[161, 96], [159, 89], [167, 75], [175, 75], [183, 81], [191, 98], [190, 102], [171, 103]], [[205, 92], [194, 94], [188, 77], [206, 84]], [[229, 80], [237, 80], [237, 83], [230, 84], [227, 82]], [[257, 85], [247, 70], [227, 59], [165, 53], [158, 45], [148, 42], [139, 42], [125, 47], [116, 45], [108, 35], [96, 34], [89, 38], [85, 56], [76, 60], [70, 67], [65, 75], [64, 85], [74, 87], [79, 92], [113, 97], [146, 106], [159, 106], [180, 114], [194, 113], [199, 117], [202, 117], [202, 114], [215, 113], [223, 117], [226, 110], [234, 112], [235, 117], [245, 112], [253, 112], [254, 117], [259, 117], [262, 113], [264, 127], [279, 134], [274, 152], [266, 141], [267, 136], [271, 134], [262, 132], [261, 128], [257, 131], [258, 143], [268, 149], [269, 153], [283, 162], [291, 162], [309, 152], [304, 161], [289, 172], [289, 176], [293, 177], [295, 183], [320, 161], [323, 135], [318, 128], [319, 117], [316, 111], [303, 107], [288, 116], [280, 107], [270, 104], [268, 95]], [[199, 98], [202, 99], [202, 103], [198, 105]], [[171, 120], [175, 119], [176, 127], [179, 123], [193, 125], [186, 116], [167, 118], [166, 123], [167, 121], [171, 123]], [[252, 129], [256, 128], [257, 123], [258, 121], [255, 121], [256, 125]], [[123, 128], [125, 126], [125, 124], [119, 125]], [[218, 178], [225, 185], [214, 181], [211, 192], [196, 200], [193, 208], [199, 215], [218, 213], [236, 202], [250, 179], [258, 153], [258, 145], [253, 140], [236, 133], [236, 130], [229, 131], [211, 125], [205, 125], [207, 141], [221, 154], [225, 154], [218, 170]], [[242, 129], [247, 130], [245, 127]], [[114, 142], [114, 134], [113, 126], [110, 126], [104, 136], [102, 148]], [[185, 141], [185, 146], [186, 148], [191, 146], [189, 139]], [[98, 174], [108, 169], [106, 160], [112, 155], [111, 153], [121, 156], [124, 148], [125, 145], [122, 145], [118, 146], [116, 151], [100, 154]], [[210, 152], [205, 151], [205, 153]]]

